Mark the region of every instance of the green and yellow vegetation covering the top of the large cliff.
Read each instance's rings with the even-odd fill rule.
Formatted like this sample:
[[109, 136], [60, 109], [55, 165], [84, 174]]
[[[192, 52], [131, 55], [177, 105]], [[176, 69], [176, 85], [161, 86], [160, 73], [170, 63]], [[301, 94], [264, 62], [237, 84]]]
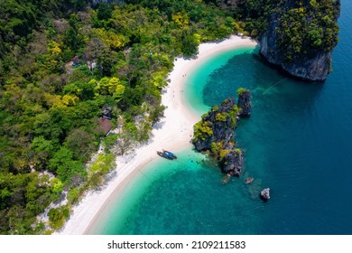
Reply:
[[338, 43], [339, 1], [280, 1], [274, 9], [280, 25], [278, 45], [286, 61], [302, 55], [330, 52]]

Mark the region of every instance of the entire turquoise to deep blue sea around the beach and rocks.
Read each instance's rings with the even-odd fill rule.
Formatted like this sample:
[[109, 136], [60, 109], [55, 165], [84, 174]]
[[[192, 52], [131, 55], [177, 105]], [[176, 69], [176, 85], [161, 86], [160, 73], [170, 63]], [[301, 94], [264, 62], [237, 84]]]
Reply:
[[[352, 234], [352, 1], [342, 0], [333, 72], [324, 84], [290, 80], [255, 49], [199, 66], [185, 93], [199, 116], [250, 89], [253, 112], [236, 129], [245, 169], [222, 185], [190, 148], [156, 159], [101, 213], [97, 234]], [[255, 181], [244, 183], [247, 176]], [[271, 188], [272, 199], [259, 200]]]

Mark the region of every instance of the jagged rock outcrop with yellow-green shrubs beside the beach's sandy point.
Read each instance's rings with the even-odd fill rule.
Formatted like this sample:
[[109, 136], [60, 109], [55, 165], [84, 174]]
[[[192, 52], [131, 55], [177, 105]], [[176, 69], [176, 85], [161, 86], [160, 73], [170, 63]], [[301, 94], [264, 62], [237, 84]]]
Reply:
[[244, 152], [235, 148], [233, 141], [239, 116], [251, 115], [250, 92], [239, 89], [239, 108], [235, 98], [228, 98], [219, 107], [213, 107], [194, 126], [192, 143], [198, 151], [209, 151], [218, 159], [223, 173], [239, 176], [244, 165]]

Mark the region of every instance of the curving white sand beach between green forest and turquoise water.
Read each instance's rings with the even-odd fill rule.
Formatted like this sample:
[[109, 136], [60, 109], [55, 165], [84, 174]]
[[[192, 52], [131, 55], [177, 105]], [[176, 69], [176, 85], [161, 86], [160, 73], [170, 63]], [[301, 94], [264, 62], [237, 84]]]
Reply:
[[[174, 61], [174, 68], [169, 74], [170, 84], [162, 94], [162, 104], [166, 107], [164, 116], [158, 127], [154, 128], [152, 140], [147, 145], [134, 149], [133, 154], [116, 158], [117, 176], [111, 180], [101, 192], [88, 192], [73, 208], [73, 213], [63, 230], [55, 234], [79, 235], [89, 233], [97, 221], [98, 214], [107, 204], [117, 197], [121, 189], [134, 178], [139, 170], [158, 157], [156, 150], [162, 148], [177, 151], [181, 147], [190, 145], [193, 135], [193, 125], [199, 121], [189, 108], [185, 106], [183, 86], [185, 77], [208, 58], [242, 46], [255, 46], [257, 42], [239, 36], [231, 36], [222, 42], [208, 42], [199, 45], [197, 59], [185, 60], [178, 58]], [[138, 158], [137, 158], [138, 157]]]

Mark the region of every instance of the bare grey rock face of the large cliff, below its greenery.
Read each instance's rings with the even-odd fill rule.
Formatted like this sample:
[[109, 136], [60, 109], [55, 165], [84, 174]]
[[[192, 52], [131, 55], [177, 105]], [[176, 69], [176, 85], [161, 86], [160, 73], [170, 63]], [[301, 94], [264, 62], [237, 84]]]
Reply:
[[[331, 18], [332, 22], [337, 22], [339, 15], [340, 3], [339, 0], [330, 0], [333, 4], [335, 16]], [[303, 1], [302, 8], [308, 8], [310, 1]], [[331, 70], [331, 51], [323, 49], [314, 49], [308, 42], [303, 42], [303, 50], [301, 54], [294, 55], [294, 59], [287, 60], [284, 57], [285, 48], [280, 47], [280, 39], [282, 36], [279, 35], [278, 28], [281, 26], [281, 19], [283, 14], [297, 7], [296, 1], [288, 0], [280, 5], [273, 5], [275, 11], [269, 16], [269, 25], [266, 32], [260, 38], [260, 54], [269, 63], [277, 66], [279, 69], [284, 70], [293, 77], [300, 78], [302, 80], [311, 81], [324, 81], [327, 79]], [[319, 8], [313, 11], [310, 16], [304, 17], [304, 23], [310, 23], [314, 18], [314, 12], [320, 12]], [[330, 29], [327, 27], [320, 26], [322, 29]], [[331, 38], [333, 40], [333, 38]]]

